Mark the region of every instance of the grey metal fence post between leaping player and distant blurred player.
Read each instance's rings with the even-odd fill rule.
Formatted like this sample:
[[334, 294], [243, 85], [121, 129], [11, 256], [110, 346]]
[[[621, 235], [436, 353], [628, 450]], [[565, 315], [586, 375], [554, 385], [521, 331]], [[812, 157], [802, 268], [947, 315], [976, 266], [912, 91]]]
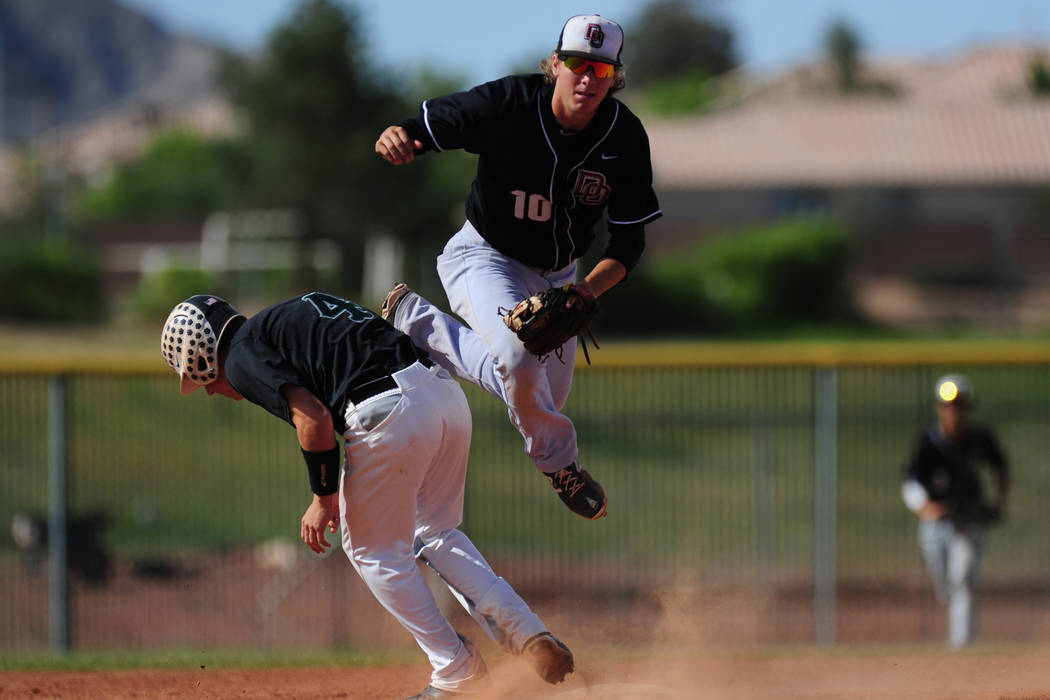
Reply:
[[835, 643], [836, 517], [838, 454], [838, 375], [818, 368], [814, 377], [814, 615], [818, 644]]

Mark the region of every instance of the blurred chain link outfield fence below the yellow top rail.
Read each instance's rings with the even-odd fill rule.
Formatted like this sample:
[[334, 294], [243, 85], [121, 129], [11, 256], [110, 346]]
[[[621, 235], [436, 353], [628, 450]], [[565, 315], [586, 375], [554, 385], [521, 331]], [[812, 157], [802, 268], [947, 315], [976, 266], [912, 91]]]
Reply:
[[[940, 641], [899, 473], [949, 370], [973, 381], [975, 418], [1013, 468], [982, 639], [1045, 639], [1050, 361], [582, 367], [566, 412], [609, 494], [594, 523], [558, 501], [505, 407], [466, 387], [463, 529], [570, 637]], [[266, 411], [180, 397], [167, 372], [9, 368], [0, 411], [2, 653], [411, 643], [341, 553], [297, 540], [306, 470], [294, 429]], [[49, 536], [62, 517], [64, 561]]]

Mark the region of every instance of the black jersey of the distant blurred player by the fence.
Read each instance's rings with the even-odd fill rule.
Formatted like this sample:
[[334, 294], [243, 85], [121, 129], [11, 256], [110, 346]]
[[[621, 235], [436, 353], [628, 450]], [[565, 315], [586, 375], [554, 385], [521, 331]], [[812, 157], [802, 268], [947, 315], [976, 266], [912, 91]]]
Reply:
[[967, 426], [957, 442], [934, 426], [919, 436], [904, 479], [922, 484], [930, 501], [946, 504], [950, 519], [967, 523], [976, 519], [985, 505], [983, 467], [1003, 476], [1009, 474], [1006, 457], [990, 429]]

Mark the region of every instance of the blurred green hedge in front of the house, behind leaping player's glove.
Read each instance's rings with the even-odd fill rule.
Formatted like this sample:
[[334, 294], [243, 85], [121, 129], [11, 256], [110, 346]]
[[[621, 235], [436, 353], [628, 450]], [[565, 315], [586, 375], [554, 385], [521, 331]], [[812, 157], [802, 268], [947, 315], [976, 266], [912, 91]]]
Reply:
[[[845, 226], [793, 216], [643, 258], [629, 290], [602, 297], [618, 333], [763, 334], [859, 323]], [[628, 285], [622, 285], [628, 287]], [[601, 337], [601, 336], [600, 336]]]

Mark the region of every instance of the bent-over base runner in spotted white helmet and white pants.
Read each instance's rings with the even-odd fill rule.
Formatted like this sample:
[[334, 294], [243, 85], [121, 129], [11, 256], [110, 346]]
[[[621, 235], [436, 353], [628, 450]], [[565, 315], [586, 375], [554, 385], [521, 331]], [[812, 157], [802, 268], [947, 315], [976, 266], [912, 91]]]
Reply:
[[[442, 616], [416, 559], [505, 651], [551, 683], [572, 654], [458, 530], [470, 448], [459, 384], [403, 333], [352, 301], [312, 292], [246, 319], [214, 296], [177, 304], [161, 351], [183, 394], [248, 399], [291, 424], [313, 502], [300, 536], [315, 552], [326, 529], [379, 602], [415, 637], [434, 667], [418, 698], [477, 692], [478, 650]], [[336, 433], [343, 437], [340, 470]], [[338, 526], [337, 526], [338, 524]]]

